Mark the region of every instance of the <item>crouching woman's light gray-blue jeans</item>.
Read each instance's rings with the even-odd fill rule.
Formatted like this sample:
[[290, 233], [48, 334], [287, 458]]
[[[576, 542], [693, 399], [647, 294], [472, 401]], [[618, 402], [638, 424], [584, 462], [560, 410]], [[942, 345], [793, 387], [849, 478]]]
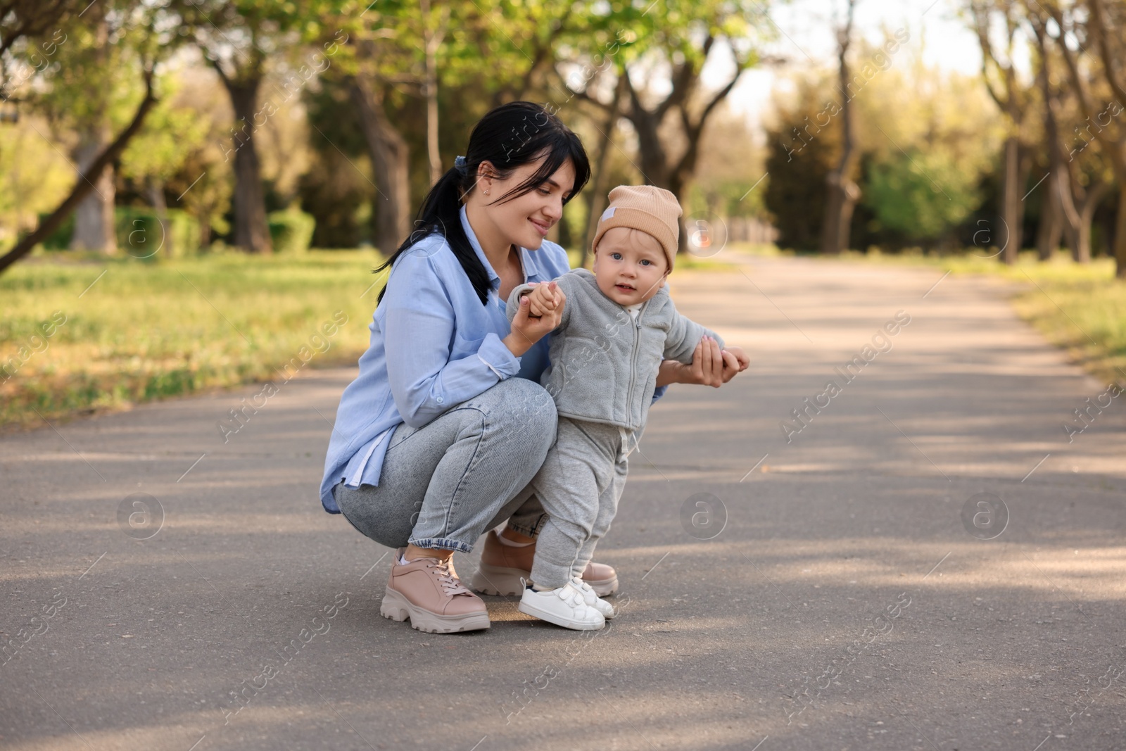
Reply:
[[486, 529], [535, 535], [543, 507], [529, 485], [555, 442], [555, 403], [527, 378], [508, 378], [421, 428], [400, 424], [379, 484], [339, 483], [345, 518], [381, 545], [468, 553]]

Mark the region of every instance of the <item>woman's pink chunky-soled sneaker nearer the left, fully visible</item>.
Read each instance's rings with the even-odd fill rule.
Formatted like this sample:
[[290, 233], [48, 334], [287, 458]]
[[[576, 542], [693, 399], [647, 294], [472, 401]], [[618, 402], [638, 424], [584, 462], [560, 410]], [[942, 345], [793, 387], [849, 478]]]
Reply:
[[453, 561], [415, 558], [400, 564], [405, 548], [395, 553], [379, 615], [411, 619], [411, 627], [432, 634], [489, 628], [484, 600], [465, 589]]

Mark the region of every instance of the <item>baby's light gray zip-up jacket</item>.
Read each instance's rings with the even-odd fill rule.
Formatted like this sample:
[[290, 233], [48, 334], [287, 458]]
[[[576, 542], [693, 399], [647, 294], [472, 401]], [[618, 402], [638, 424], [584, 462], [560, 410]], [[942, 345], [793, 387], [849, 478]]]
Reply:
[[[575, 269], [555, 280], [566, 295], [558, 328], [551, 332], [548, 357], [540, 384], [555, 400], [561, 417], [606, 422], [629, 430], [645, 427], [656, 388], [656, 372], [664, 359], [692, 361], [704, 336], [715, 332], [677, 312], [662, 287], [642, 304], [634, 321], [629, 313], [602, 294], [595, 275]], [[508, 320], [519, 310], [520, 285], [508, 298]]]

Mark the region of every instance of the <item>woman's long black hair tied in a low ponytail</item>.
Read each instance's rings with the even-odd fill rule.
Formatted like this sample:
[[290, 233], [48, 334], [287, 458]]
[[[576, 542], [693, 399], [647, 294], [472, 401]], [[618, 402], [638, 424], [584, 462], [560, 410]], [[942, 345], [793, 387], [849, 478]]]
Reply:
[[[507, 203], [544, 184], [568, 160], [574, 166], [574, 186], [563, 203], [571, 200], [590, 179], [590, 160], [579, 136], [571, 132], [558, 117], [542, 105], [530, 101], [512, 101], [489, 110], [473, 126], [470, 145], [465, 152], [465, 163], [446, 171], [430, 188], [414, 220], [414, 231], [399, 245], [391, 258], [375, 269], [376, 272], [393, 266], [395, 260], [411, 245], [423, 238], [438, 233], [446, 239], [454, 256], [465, 269], [465, 276], [484, 305], [489, 299], [489, 274], [462, 227], [459, 212], [462, 196], [473, 189], [477, 181], [477, 167], [490, 162], [497, 177], [507, 178], [512, 170], [537, 159], [544, 159], [528, 179], [509, 190], [493, 203]], [[461, 160], [458, 160], [461, 161]], [[379, 302], [386, 286], [379, 292]]]

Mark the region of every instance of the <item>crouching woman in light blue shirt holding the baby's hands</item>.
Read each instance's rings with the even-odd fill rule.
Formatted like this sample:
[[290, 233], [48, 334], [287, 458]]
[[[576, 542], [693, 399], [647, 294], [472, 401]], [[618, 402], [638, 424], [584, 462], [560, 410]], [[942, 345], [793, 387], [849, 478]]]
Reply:
[[[511, 325], [503, 301], [569, 270], [565, 251], [544, 238], [589, 176], [582, 143], [558, 118], [526, 101], [498, 107], [379, 269], [391, 274], [359, 375], [340, 399], [321, 502], [402, 548], [381, 607], [388, 618], [436, 633], [488, 628], [485, 604], [452, 556], [506, 519], [483, 560], [530, 567], [542, 510], [527, 485], [555, 440], [555, 405], [538, 385], [544, 334], [565, 299], [556, 290], [555, 310], [539, 319], [525, 303]], [[658, 385], [718, 386], [740, 365], [701, 343], [692, 366], [663, 364]], [[606, 565], [584, 579], [617, 583]]]

